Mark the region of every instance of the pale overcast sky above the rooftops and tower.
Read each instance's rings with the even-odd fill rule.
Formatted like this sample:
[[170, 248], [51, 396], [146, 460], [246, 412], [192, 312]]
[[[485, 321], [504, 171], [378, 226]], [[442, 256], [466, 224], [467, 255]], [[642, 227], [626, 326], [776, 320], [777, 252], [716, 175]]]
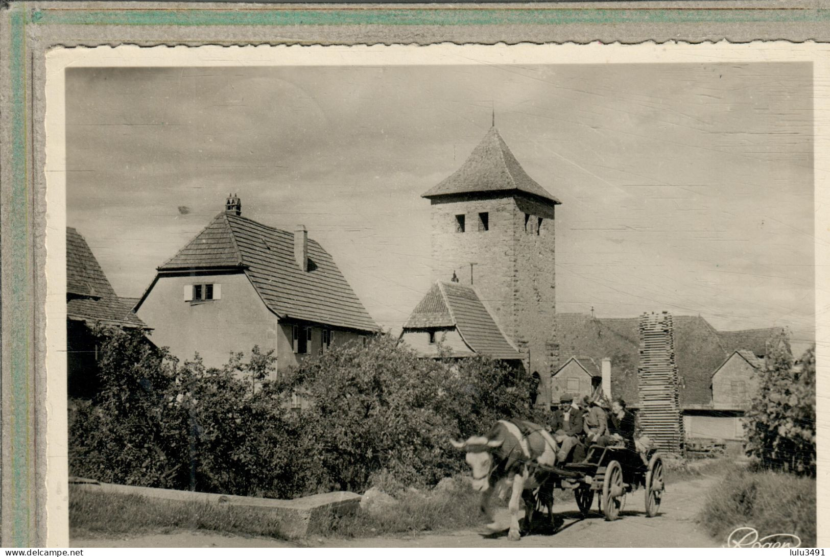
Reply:
[[812, 339], [805, 64], [89, 68], [66, 75], [67, 223], [115, 291], [220, 212], [305, 224], [375, 320], [429, 286], [429, 202], [491, 125], [562, 205], [557, 311], [670, 310]]

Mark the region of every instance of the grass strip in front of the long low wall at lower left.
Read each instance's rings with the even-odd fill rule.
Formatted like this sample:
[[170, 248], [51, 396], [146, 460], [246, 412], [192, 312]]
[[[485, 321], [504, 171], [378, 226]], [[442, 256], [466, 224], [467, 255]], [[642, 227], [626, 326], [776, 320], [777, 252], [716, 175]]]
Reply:
[[69, 489], [72, 538], [166, 534], [175, 530], [209, 530], [232, 535], [285, 539], [268, 513], [231, 506]]

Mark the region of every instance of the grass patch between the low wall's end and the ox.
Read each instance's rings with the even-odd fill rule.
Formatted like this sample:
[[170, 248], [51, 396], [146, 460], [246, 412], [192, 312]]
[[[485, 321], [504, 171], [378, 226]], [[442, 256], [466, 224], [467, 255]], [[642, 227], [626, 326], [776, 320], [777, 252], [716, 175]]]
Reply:
[[340, 517], [328, 535], [357, 538], [469, 528], [484, 524], [480, 497], [464, 481], [440, 491], [402, 491], [395, 495], [394, 506]]

